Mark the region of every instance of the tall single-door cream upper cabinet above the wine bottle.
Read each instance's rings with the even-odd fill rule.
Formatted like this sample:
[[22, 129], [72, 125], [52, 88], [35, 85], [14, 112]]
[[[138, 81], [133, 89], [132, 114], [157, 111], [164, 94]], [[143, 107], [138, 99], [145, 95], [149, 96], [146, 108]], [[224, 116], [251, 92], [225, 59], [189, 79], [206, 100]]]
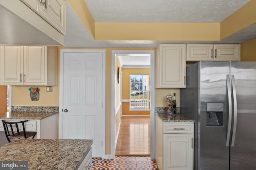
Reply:
[[155, 64], [156, 88], [186, 88], [186, 44], [158, 44]]

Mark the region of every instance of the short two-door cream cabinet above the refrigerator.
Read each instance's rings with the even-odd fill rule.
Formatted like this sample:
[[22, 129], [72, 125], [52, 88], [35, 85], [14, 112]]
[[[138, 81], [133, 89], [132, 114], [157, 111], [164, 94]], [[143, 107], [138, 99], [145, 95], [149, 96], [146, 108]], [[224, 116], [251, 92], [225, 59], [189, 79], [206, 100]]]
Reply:
[[240, 44], [188, 43], [186, 61], [240, 61]]

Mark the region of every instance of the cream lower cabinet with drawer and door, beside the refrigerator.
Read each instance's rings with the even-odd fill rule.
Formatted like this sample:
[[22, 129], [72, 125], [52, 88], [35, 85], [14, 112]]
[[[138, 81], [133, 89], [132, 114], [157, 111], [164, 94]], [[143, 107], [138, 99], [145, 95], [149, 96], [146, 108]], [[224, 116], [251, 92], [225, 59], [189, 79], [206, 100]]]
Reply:
[[156, 116], [155, 159], [159, 170], [193, 170], [194, 123], [163, 123]]

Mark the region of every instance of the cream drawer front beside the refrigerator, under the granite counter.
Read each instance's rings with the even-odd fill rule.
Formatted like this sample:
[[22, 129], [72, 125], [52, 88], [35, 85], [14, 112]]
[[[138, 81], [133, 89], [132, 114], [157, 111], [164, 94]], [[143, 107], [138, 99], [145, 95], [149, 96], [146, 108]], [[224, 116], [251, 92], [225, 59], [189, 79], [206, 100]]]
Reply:
[[163, 133], [194, 133], [194, 123], [163, 123]]

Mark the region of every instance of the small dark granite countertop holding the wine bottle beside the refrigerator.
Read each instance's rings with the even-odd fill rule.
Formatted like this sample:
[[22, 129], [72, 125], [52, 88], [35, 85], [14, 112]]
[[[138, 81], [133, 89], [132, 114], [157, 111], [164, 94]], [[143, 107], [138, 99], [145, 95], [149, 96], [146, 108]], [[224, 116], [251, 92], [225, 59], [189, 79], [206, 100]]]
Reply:
[[167, 115], [167, 113], [155, 113], [163, 122], [195, 122], [182, 113]]

